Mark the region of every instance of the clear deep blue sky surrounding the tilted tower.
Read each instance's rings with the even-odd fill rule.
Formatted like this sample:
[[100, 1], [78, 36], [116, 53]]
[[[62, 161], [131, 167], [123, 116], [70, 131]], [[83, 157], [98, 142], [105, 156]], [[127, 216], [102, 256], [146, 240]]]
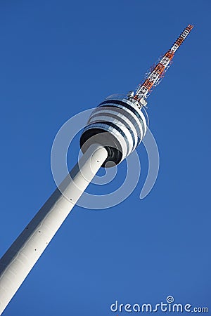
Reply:
[[115, 315], [115, 300], [155, 304], [167, 295], [211, 310], [210, 6], [1, 1], [0, 255], [56, 187], [50, 153], [60, 126], [109, 94], [134, 88], [181, 30], [195, 25], [148, 99], [160, 151], [152, 192], [139, 199], [148, 169], [140, 146], [136, 190], [107, 210], [75, 207], [5, 316]]

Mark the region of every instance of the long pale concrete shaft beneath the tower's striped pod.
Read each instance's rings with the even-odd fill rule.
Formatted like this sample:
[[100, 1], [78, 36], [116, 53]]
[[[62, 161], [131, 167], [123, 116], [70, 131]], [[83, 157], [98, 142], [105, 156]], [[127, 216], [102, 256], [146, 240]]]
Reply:
[[108, 157], [91, 145], [0, 260], [0, 315]]

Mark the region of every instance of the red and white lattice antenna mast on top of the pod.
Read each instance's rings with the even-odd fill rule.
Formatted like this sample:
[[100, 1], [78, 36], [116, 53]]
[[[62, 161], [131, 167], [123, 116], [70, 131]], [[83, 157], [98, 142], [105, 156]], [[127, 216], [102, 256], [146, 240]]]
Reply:
[[186, 39], [188, 34], [191, 32], [191, 29], [193, 29], [193, 25], [188, 25], [184, 29], [184, 31], [179, 35], [177, 41], [174, 42], [172, 48], [170, 48], [170, 50], [167, 51], [167, 53], [165, 53], [165, 55], [160, 59], [158, 64], [155, 65], [150, 72], [148, 72], [145, 81], [143, 81], [143, 84], [139, 84], [139, 87], [137, 88], [136, 93], [133, 97], [134, 100], [145, 100], [146, 98], [148, 98], [152, 88], [160, 84], [160, 81], [164, 77], [166, 70], [171, 65], [174, 53], [177, 51], [179, 46], [181, 46], [181, 43], [184, 41], [184, 39]]

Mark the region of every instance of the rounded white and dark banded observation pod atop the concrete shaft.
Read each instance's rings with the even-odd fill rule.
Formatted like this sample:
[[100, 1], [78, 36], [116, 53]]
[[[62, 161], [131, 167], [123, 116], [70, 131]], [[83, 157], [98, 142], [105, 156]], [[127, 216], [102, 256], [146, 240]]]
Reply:
[[[141, 103], [142, 102], [142, 103]], [[108, 151], [102, 166], [120, 164], [141, 143], [148, 128], [145, 100], [134, 102], [131, 94], [112, 95], [91, 113], [80, 138], [82, 152], [98, 143]]]

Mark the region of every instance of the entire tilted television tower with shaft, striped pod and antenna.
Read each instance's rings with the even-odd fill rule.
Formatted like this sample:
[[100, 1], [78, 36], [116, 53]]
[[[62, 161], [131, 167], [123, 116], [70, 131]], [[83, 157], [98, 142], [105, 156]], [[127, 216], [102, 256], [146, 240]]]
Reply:
[[141, 143], [148, 128], [146, 99], [192, 28], [184, 29], [136, 91], [110, 96], [91, 113], [80, 138], [82, 158], [0, 260], [0, 315], [98, 169], [120, 164]]

